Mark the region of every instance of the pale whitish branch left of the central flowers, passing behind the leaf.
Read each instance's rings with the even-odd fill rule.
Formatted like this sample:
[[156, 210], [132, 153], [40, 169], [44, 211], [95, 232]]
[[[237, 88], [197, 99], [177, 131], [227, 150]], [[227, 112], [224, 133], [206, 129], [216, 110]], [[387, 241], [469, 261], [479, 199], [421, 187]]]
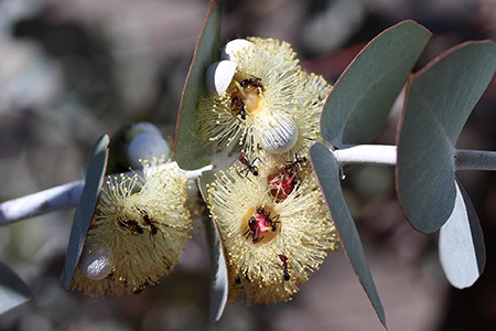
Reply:
[[[160, 167], [168, 167], [171, 163]], [[187, 179], [196, 179], [203, 171], [211, 169], [212, 166], [207, 166], [197, 170], [185, 171], [185, 177]], [[74, 181], [0, 203], [0, 225], [7, 225], [57, 210], [74, 207], [79, 202], [84, 184], [84, 180]]]

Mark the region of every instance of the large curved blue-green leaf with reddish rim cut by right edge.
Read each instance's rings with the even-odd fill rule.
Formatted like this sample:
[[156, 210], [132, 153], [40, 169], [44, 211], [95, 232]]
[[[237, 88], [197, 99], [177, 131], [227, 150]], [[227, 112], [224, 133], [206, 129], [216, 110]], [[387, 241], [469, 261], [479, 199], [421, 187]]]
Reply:
[[396, 181], [403, 213], [419, 231], [438, 231], [453, 211], [455, 143], [495, 70], [496, 45], [467, 42], [409, 79]]

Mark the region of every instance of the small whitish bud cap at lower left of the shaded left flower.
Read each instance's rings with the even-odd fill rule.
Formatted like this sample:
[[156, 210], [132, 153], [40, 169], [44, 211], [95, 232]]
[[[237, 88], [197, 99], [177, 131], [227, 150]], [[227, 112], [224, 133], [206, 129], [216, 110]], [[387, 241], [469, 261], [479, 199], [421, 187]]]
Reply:
[[97, 247], [84, 250], [79, 261], [79, 269], [86, 278], [100, 280], [110, 275], [112, 265], [108, 260], [110, 248]]

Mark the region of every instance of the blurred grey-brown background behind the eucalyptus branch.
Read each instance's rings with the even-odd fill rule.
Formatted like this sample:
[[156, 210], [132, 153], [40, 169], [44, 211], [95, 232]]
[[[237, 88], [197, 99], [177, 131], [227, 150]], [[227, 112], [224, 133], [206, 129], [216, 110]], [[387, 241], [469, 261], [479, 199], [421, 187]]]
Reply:
[[[204, 20], [200, 0], [0, 1], [0, 201], [78, 180], [93, 142], [147, 120], [174, 135], [181, 90]], [[432, 38], [421, 62], [467, 40], [496, 40], [494, 0], [223, 1], [223, 41], [290, 42], [303, 66], [335, 82], [384, 29], [413, 19]], [[496, 149], [496, 84], [477, 104], [459, 148]], [[446, 82], [449, 83], [449, 82]], [[378, 143], [393, 143], [400, 103]], [[448, 284], [435, 235], [403, 220], [393, 169], [345, 169], [389, 330], [496, 330], [496, 175], [463, 172], [484, 229], [487, 265], [470, 289]], [[208, 323], [209, 257], [201, 224], [182, 264], [140, 295], [94, 300], [60, 275], [74, 210], [0, 228], [0, 260], [34, 292], [0, 330], [381, 330], [344, 253], [333, 253], [291, 302], [228, 303]]]

